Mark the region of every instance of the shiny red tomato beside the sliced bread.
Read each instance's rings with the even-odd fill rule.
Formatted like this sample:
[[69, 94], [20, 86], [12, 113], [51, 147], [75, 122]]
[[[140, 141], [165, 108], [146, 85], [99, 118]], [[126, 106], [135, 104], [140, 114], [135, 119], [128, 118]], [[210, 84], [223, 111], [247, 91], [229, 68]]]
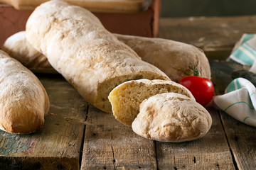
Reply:
[[203, 77], [187, 76], [183, 77], [179, 84], [185, 86], [191, 94], [196, 98], [196, 101], [202, 106], [206, 106], [214, 94], [214, 87], [212, 81]]

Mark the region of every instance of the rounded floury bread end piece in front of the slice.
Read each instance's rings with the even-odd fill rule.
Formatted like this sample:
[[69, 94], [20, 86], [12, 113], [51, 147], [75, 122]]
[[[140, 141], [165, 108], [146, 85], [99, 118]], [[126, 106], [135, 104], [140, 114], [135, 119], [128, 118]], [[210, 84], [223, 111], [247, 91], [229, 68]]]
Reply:
[[150, 140], [184, 142], [206, 135], [212, 119], [206, 108], [182, 94], [156, 94], [142, 102], [132, 130]]

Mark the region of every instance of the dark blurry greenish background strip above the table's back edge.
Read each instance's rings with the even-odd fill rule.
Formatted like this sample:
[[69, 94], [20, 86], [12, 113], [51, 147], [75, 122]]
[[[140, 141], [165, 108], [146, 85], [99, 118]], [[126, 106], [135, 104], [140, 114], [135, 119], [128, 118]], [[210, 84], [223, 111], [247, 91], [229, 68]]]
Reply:
[[161, 17], [253, 14], [256, 14], [256, 0], [161, 0]]

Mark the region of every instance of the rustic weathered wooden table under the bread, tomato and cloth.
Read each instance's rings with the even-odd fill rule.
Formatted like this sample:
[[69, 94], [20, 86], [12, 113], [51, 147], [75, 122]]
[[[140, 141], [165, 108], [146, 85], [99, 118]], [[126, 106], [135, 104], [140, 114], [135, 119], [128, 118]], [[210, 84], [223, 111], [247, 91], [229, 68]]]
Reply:
[[[253, 23], [245, 26], [250, 18]], [[231, 32], [223, 37], [226, 29]], [[162, 18], [159, 36], [191, 42], [203, 47], [210, 58], [220, 54], [223, 59], [246, 29], [256, 32], [255, 16]], [[223, 64], [230, 63], [211, 60], [210, 64], [215, 94], [223, 94], [232, 71]], [[256, 128], [223, 111], [207, 108], [213, 125], [199, 140], [156, 142], [88, 105], [60, 75], [36, 75], [50, 98], [46, 124], [32, 135], [0, 131], [0, 169], [256, 169]]]

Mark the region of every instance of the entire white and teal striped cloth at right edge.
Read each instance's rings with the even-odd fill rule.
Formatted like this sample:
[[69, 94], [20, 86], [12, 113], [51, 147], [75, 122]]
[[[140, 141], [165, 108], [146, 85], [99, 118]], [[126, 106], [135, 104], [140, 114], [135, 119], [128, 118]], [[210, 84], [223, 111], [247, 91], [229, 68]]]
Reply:
[[[250, 66], [250, 72], [256, 73], [256, 35], [242, 35], [228, 60]], [[225, 94], [214, 96], [213, 102], [233, 118], [256, 127], [256, 88], [247, 79], [231, 81]]]

